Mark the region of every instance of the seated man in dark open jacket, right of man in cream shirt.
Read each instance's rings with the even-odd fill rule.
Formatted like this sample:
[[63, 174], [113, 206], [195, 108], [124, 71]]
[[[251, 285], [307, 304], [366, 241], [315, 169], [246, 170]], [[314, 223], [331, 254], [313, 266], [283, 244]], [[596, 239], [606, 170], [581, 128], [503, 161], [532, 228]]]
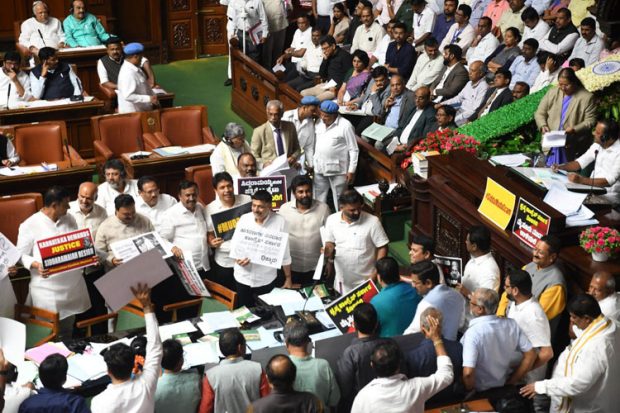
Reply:
[[467, 69], [460, 62], [463, 50], [457, 44], [449, 44], [443, 49], [444, 70], [431, 84], [433, 101], [439, 103], [442, 100], [456, 96], [469, 81]]

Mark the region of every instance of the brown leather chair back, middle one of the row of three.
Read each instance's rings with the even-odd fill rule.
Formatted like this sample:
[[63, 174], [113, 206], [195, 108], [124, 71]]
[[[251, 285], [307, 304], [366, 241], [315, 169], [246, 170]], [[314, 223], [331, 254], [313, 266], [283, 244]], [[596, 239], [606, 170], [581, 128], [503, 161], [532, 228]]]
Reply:
[[115, 157], [139, 151], [142, 149], [139, 146], [142, 142], [141, 116], [138, 112], [94, 116], [90, 118], [93, 139], [105, 144]]

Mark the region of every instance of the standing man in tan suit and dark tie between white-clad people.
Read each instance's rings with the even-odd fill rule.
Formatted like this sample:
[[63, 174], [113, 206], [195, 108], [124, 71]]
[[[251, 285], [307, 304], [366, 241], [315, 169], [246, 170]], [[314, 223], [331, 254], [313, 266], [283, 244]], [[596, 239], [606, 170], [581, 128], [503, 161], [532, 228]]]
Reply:
[[282, 120], [284, 105], [279, 100], [267, 102], [267, 122], [252, 133], [252, 153], [262, 167], [268, 166], [278, 156], [286, 154], [291, 166], [297, 164], [301, 153], [297, 130], [291, 122]]

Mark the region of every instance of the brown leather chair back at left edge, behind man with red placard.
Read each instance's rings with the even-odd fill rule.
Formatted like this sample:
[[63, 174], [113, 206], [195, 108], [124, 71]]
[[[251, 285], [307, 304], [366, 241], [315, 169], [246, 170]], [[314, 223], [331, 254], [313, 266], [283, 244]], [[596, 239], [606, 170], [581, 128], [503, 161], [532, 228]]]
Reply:
[[0, 232], [17, 244], [19, 226], [43, 207], [41, 194], [26, 193], [0, 197]]

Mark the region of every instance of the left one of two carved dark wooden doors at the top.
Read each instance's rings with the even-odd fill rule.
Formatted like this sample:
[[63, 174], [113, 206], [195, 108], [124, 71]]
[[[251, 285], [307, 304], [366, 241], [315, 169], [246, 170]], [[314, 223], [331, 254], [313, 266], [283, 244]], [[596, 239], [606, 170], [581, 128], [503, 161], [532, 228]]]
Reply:
[[196, 58], [196, 43], [198, 39], [197, 9], [198, 0], [166, 1], [169, 60]]

